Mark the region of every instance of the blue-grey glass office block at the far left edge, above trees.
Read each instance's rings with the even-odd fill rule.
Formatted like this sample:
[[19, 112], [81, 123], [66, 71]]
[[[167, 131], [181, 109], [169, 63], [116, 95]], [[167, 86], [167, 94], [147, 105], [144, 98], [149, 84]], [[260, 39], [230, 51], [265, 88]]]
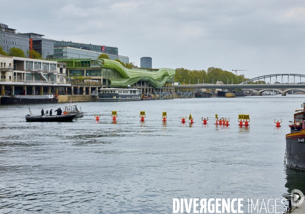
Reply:
[[6, 24], [0, 24], [0, 45], [7, 53], [12, 47], [20, 48], [26, 56], [29, 50], [29, 38], [15, 31], [16, 29], [9, 28]]

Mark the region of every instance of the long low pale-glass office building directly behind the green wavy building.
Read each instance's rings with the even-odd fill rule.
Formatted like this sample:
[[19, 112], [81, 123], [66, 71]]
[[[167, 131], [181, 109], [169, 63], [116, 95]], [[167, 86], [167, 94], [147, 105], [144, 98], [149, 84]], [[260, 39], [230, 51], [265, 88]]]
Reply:
[[[97, 59], [102, 52], [91, 51], [74, 47], [54, 47], [54, 59]], [[111, 60], [118, 59], [121, 62], [129, 63], [129, 58], [118, 55], [107, 54]]]

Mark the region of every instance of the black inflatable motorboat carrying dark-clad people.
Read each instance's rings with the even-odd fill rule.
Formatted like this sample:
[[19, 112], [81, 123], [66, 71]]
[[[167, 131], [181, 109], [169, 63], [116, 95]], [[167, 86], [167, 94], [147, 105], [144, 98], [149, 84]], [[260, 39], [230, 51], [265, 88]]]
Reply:
[[25, 120], [28, 122], [69, 122], [75, 118], [75, 114], [67, 115], [37, 115], [34, 116], [31, 109], [28, 108], [29, 115], [25, 116]]

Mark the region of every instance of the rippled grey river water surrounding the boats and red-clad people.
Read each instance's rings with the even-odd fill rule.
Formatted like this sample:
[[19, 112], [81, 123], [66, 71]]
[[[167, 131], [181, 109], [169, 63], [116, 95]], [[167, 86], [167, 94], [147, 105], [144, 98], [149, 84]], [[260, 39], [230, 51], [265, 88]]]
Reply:
[[[246, 207], [248, 198], [282, 199], [291, 185], [305, 193], [305, 174], [283, 165], [288, 121], [304, 99], [80, 102], [84, 117], [67, 123], [24, 118], [63, 103], [0, 105], [0, 212], [171, 213], [173, 198], [244, 198]], [[190, 113], [195, 123], [181, 124]], [[214, 125], [215, 114], [231, 125]], [[238, 114], [250, 115], [248, 128]]]

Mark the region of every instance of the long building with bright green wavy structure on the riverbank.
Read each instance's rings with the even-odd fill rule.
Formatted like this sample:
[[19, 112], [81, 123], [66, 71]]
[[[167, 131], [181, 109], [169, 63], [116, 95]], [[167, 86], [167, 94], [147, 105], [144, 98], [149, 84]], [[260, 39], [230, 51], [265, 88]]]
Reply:
[[[175, 70], [160, 68], [159, 70], [128, 69], [119, 62], [108, 59], [53, 59], [65, 62], [67, 77], [72, 85], [80, 89], [80, 94], [92, 93], [99, 88], [138, 88], [142, 93], [159, 93], [174, 91]], [[71, 94], [76, 94], [72, 88]], [[69, 93], [69, 92], [68, 92]]]

